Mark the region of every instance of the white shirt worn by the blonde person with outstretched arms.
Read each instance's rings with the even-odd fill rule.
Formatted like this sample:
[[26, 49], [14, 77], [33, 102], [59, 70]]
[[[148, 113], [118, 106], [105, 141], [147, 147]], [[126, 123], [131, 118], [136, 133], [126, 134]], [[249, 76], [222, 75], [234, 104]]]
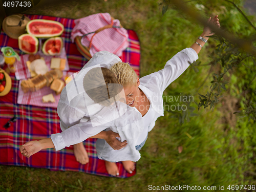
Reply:
[[[99, 54], [110, 53], [103, 51], [99, 52]], [[114, 58], [117, 56], [112, 55], [112, 57]], [[150, 132], [155, 126], [155, 121], [157, 120], [157, 118], [163, 116], [163, 91], [169, 86], [170, 83], [177, 79], [189, 67], [188, 61], [192, 63], [197, 59], [198, 55], [196, 51], [192, 48], [186, 48], [177, 53], [173, 58], [169, 59], [162, 70], [140, 78], [139, 88], [147, 96], [148, 100], [150, 100], [152, 108], [155, 111], [155, 114], [153, 115], [153, 118], [148, 126], [148, 132]], [[109, 69], [110, 67], [108, 66], [107, 68]], [[64, 106], [60, 105], [60, 108], [62, 107]], [[142, 116], [136, 108], [131, 108], [129, 106], [127, 108], [128, 110], [126, 114], [126, 117], [131, 116], [136, 119], [134, 124], [131, 123], [131, 121], [129, 121], [129, 124], [125, 124], [127, 123], [127, 120], [125, 116], [122, 116], [120, 119], [99, 125], [97, 127], [92, 127], [91, 120], [89, 119], [87, 119], [87, 121], [85, 122], [81, 122], [82, 118], [84, 117], [84, 113], [82, 114], [82, 112], [78, 110], [76, 111], [76, 109], [72, 109], [69, 112], [69, 108], [62, 110], [60, 110], [60, 108], [58, 105], [58, 115], [60, 119], [65, 119], [67, 123], [72, 126], [69, 127], [69, 129], [63, 131], [62, 133], [51, 135], [51, 139], [54, 143], [56, 151], [61, 150], [66, 146], [80, 143], [87, 138], [100, 133], [101, 131], [106, 129], [106, 127], [110, 127], [112, 131], [120, 135], [121, 141], [127, 140], [128, 145], [123, 147], [121, 150], [113, 150], [113, 148], [104, 140], [104, 142], [101, 142], [102, 139], [98, 139], [96, 143], [98, 157], [112, 162], [124, 160], [139, 160], [140, 154], [135, 149], [135, 142], [138, 135], [140, 135], [143, 131], [143, 128], [141, 129], [141, 126], [144, 127], [144, 123], [142, 119], [139, 118], [142, 118]], [[86, 109], [84, 109], [84, 111], [86, 111]], [[67, 118], [72, 119], [73, 122], [68, 120]], [[134, 129], [134, 127], [137, 127], [137, 129]]]

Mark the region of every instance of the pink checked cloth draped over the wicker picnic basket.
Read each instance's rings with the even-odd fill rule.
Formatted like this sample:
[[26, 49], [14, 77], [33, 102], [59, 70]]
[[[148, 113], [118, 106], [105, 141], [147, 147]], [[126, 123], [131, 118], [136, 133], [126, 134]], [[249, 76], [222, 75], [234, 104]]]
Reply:
[[[113, 20], [113, 26], [120, 26], [118, 19]], [[101, 27], [111, 24], [111, 15], [109, 13], [97, 13], [87, 17], [75, 20], [75, 27], [71, 32], [71, 39], [74, 42], [76, 36], [94, 32]], [[81, 44], [89, 47], [90, 41], [94, 33], [84, 36], [81, 39]], [[122, 51], [129, 44], [127, 41], [128, 33], [124, 28], [108, 28], [97, 33], [92, 40], [90, 54], [93, 56], [98, 51], [109, 51], [117, 56], [122, 56]]]

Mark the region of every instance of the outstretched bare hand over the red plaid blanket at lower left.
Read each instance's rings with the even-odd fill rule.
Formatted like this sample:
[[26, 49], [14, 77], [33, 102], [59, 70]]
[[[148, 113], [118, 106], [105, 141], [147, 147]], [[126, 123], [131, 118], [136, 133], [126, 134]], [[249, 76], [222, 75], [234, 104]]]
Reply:
[[30, 157], [31, 155], [34, 155], [35, 153], [39, 152], [42, 149], [41, 144], [39, 141], [29, 141], [19, 147], [20, 153], [22, 153], [25, 157]]

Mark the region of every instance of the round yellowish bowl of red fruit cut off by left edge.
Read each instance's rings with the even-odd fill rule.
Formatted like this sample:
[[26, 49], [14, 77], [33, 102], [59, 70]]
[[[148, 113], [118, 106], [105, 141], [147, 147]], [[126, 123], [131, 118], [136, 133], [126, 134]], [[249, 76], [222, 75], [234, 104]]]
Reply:
[[12, 87], [11, 77], [0, 68], [0, 96], [7, 95]]

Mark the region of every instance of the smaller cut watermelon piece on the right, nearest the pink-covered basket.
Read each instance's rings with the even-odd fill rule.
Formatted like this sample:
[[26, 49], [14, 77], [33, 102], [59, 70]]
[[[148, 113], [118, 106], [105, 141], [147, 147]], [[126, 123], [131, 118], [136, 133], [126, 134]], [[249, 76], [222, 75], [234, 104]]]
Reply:
[[60, 37], [52, 37], [45, 41], [42, 46], [42, 52], [46, 55], [58, 55], [63, 47], [63, 41]]

